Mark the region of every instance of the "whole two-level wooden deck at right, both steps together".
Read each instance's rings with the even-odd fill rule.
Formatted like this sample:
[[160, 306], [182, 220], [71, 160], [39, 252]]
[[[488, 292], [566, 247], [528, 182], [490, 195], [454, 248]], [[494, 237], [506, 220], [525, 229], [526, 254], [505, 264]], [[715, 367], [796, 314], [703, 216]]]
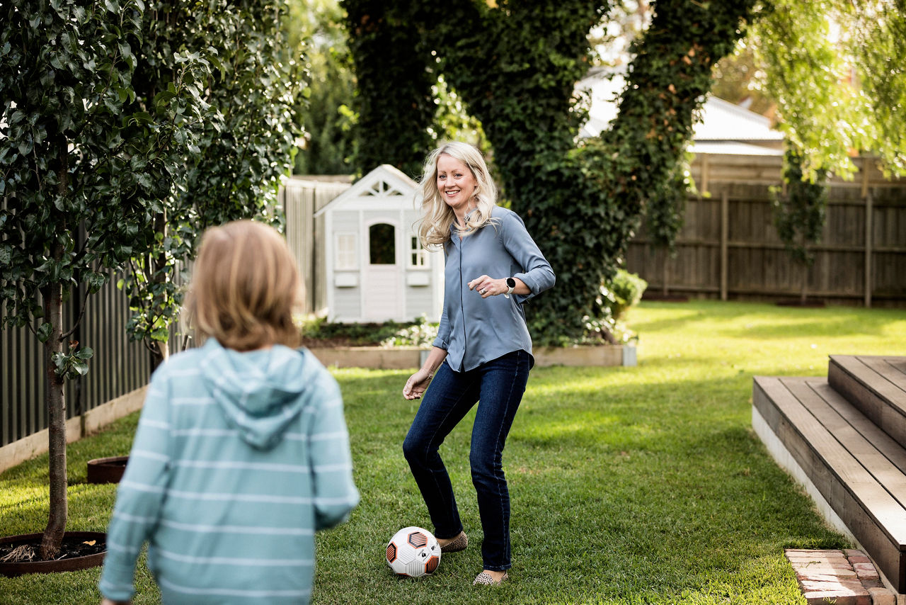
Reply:
[[906, 357], [832, 356], [828, 379], [757, 376], [753, 411], [766, 443], [906, 592]]

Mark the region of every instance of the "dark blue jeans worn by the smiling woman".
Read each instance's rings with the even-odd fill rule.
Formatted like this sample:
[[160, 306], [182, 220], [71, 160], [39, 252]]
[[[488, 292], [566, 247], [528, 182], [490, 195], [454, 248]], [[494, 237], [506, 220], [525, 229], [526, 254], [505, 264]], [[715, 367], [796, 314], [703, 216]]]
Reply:
[[468, 461], [485, 533], [481, 556], [486, 570], [510, 568], [509, 492], [502, 460], [506, 434], [525, 393], [530, 360], [525, 351], [514, 351], [467, 372], [455, 372], [448, 364], [441, 364], [402, 445], [428, 505], [435, 535], [457, 536], [462, 522], [438, 448], [479, 402]]

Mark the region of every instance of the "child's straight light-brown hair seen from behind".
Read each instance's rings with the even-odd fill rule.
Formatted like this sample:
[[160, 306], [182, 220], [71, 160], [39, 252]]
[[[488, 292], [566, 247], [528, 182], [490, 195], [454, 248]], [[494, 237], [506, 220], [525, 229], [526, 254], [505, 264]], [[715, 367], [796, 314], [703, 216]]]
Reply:
[[238, 351], [299, 346], [293, 312], [301, 298], [295, 259], [275, 229], [251, 220], [207, 229], [188, 294], [205, 336]]

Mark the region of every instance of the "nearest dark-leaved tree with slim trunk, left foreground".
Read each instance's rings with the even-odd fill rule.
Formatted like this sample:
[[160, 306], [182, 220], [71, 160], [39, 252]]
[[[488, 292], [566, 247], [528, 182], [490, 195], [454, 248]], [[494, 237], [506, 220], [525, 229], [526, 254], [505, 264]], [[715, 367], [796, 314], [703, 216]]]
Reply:
[[[198, 144], [209, 70], [175, 54], [162, 92], [136, 103], [140, 0], [11, 0], [0, 8], [0, 288], [4, 326], [44, 343], [50, 511], [40, 556], [67, 516], [63, 382], [92, 349], [69, 341], [63, 301], [86, 297], [154, 241], [154, 217]], [[84, 307], [84, 305], [82, 305]], [[78, 318], [76, 322], [78, 323]], [[67, 329], [68, 328], [68, 329]]]

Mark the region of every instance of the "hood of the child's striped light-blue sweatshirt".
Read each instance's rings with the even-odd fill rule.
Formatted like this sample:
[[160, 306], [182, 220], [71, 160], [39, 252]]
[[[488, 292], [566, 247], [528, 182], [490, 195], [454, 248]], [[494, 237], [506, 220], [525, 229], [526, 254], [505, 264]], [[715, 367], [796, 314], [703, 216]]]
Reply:
[[279, 444], [317, 384], [320, 364], [312, 354], [283, 345], [239, 352], [215, 338], [202, 350], [202, 377], [227, 422], [258, 449]]

